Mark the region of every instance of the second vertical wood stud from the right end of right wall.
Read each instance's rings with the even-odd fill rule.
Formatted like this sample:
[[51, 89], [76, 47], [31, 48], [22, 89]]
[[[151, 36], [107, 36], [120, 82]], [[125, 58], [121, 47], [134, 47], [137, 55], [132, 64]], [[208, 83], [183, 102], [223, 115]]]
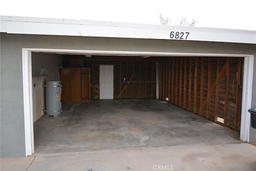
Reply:
[[[230, 58], [230, 57], [228, 57]], [[230, 60], [231, 61], [231, 60]], [[224, 107], [224, 125], [227, 123], [228, 118], [228, 95], [229, 95], [229, 79], [230, 79], [230, 61], [228, 62], [227, 59], [227, 66], [226, 66], [226, 91], [225, 91], [225, 107]]]

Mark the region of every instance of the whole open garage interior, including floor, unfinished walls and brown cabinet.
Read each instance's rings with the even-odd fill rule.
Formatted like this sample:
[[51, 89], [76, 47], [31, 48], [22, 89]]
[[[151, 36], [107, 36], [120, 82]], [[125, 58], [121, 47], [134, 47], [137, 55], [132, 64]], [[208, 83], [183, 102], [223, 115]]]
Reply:
[[[35, 153], [239, 142], [243, 61], [32, 52]], [[113, 100], [99, 99], [100, 65], [114, 66]], [[80, 87], [65, 90], [67, 68]], [[58, 79], [62, 113], [42, 117]]]

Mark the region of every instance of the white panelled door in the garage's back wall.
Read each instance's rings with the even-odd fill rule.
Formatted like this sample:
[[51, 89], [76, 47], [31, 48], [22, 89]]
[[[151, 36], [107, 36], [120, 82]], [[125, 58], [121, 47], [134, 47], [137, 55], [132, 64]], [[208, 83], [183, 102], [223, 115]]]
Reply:
[[114, 66], [100, 65], [100, 99], [113, 99]]

